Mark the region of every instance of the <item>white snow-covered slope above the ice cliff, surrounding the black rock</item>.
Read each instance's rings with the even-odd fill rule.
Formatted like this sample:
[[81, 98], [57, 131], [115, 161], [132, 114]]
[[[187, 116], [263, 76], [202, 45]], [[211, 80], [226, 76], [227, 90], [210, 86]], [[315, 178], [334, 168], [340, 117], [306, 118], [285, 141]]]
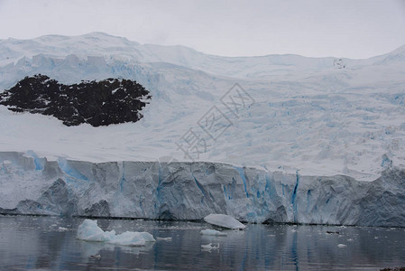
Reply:
[[[97, 128], [67, 127], [52, 117], [15, 114], [1, 106], [0, 151], [32, 151], [53, 161], [172, 156], [367, 181], [386, 168], [405, 165], [405, 47], [349, 60], [227, 58], [105, 33], [0, 41], [0, 89], [36, 73], [61, 83], [135, 79], [151, 90], [152, 102], [135, 124]], [[235, 108], [222, 101], [229, 101], [227, 91], [235, 83], [251, 99], [245, 105], [239, 100], [233, 114]], [[237, 99], [235, 89], [231, 94]], [[212, 107], [226, 127], [214, 135], [216, 140], [207, 135], [204, 118], [214, 112]], [[199, 155], [185, 156], [176, 145], [190, 128], [207, 144]]]

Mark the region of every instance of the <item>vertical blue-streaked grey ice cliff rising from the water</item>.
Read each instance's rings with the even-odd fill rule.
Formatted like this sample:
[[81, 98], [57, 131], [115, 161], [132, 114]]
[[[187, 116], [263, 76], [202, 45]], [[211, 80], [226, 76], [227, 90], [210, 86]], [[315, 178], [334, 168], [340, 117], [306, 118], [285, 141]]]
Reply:
[[89, 163], [0, 153], [0, 212], [405, 226], [405, 171], [373, 182], [208, 162]]

